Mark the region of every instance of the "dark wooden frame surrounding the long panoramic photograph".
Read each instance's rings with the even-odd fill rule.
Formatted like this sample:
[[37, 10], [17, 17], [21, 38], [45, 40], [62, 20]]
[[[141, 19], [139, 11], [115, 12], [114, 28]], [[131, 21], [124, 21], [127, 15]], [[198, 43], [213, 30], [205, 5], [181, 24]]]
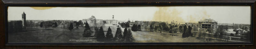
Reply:
[[[49, 45], [57, 45], [58, 47], [66, 47], [66, 46], [63, 46], [62, 44], [27, 44], [27, 45], [37, 45], [37, 46], [9, 46], [9, 45], [23, 45], [23, 44], [7, 44], [7, 38], [6, 38], [6, 33], [8, 30], [6, 29], [7, 27], [6, 26], [6, 15], [7, 13], [5, 13], [7, 10], [7, 6], [84, 6], [84, 5], [87, 5], [87, 6], [96, 6], [96, 5], [101, 5], [101, 6], [109, 6], [109, 5], [250, 5], [252, 7], [252, 32], [254, 33], [255, 29], [255, 26], [253, 25], [256, 25], [254, 24], [253, 22], [255, 22], [255, 1], [254, 0], [249, 0], [249, 1], [240, 1], [240, 0], [234, 0], [234, 1], [216, 1], [216, 0], [190, 0], [190, 1], [185, 1], [185, 0], [172, 0], [172, 1], [164, 1], [164, 0], [159, 0], [159, 1], [154, 1], [154, 0], [148, 0], [148, 1], [126, 1], [126, 0], [121, 0], [121, 1], [114, 1], [114, 0], [109, 0], [109, 1], [103, 1], [103, 0], [96, 0], [96, 1], [93, 1], [93, 0], [88, 0], [84, 3], [80, 3], [79, 1], [82, 1], [82, 0], [78, 0], [78, 1], [71, 1], [71, 0], [64, 0], [64, 1], [56, 1], [56, 0], [53, 0], [53, 1], [48, 1], [48, 0], [39, 0], [41, 2], [36, 2], [36, 1], [28, 1], [28, 2], [31, 2], [31, 3], [28, 3], [26, 1], [15, 1], [13, 0], [13, 2], [8, 2], [8, 1], [4, 1], [2, 3], [2, 1], [0, 2], [0, 13], [1, 13], [1, 23], [0, 24], [0, 47], [2, 48], [12, 48], [12, 47], [17, 47], [17, 48], [26, 48], [26, 47], [43, 47], [43, 48], [49, 48], [49, 47], [52, 47], [52, 46], [49, 46]], [[68, 1], [71, 1], [71, 2], [68, 2]], [[252, 35], [255, 35], [255, 34], [252, 34]], [[101, 45], [103, 47], [108, 47], [108, 48], [115, 48], [115, 47], [119, 47], [119, 48], [123, 48], [123, 47], [126, 47], [126, 48], [130, 48], [130, 47], [127, 47], [127, 46], [131, 46], [131, 45], [134, 45], [136, 44], [137, 46], [135, 47], [138, 47], [138, 48], [143, 48], [145, 45], [148, 46], [147, 48], [154, 48], [154, 47], [162, 47], [162, 48], [166, 48], [165, 46], [167, 47], [172, 47], [172, 48], [192, 48], [194, 46], [188, 46], [189, 44], [193, 44], [193, 45], [201, 45], [201, 46], [196, 46], [194, 48], [205, 48], [205, 47], [212, 47], [212, 48], [216, 48], [217, 46], [220, 46], [220, 47], [224, 47], [224, 48], [255, 48], [255, 37], [252, 38], [252, 42], [253, 43], [226, 43], [226, 44], [222, 44], [222, 43], [187, 43], [187, 44], [182, 44], [182, 43], [129, 43], [129, 44], [120, 44], [120, 43], [116, 43], [116, 44], [107, 44], [107, 45], [111, 45], [112, 47], [108, 47], [108, 46], [105, 46], [106, 44], [95, 44], [97, 46]], [[168, 45], [172, 45], [172, 44], [176, 44], [176, 45], [184, 45], [183, 46], [168, 46]], [[204, 44], [210, 44], [210, 46], [203, 46]], [[45, 46], [46, 45], [46, 46]], [[70, 46], [73, 46], [74, 44], [65, 44], [67, 45], [67, 47], [70, 47]], [[76, 47], [79, 47], [79, 48], [83, 48], [84, 46], [80, 46], [80, 45], [84, 45], [84, 44], [75, 44], [75, 45], [79, 45], [79, 46], [76, 46]], [[90, 44], [89, 44], [90, 45]], [[118, 45], [118, 46], [113, 46], [113, 45]], [[122, 45], [125, 45], [125, 46], [122, 46]], [[139, 45], [139, 46], [138, 46]], [[152, 46], [153, 45], [153, 46]], [[156, 46], [155, 46], [156, 45]], [[187, 46], [185, 46], [187, 45]], [[212, 46], [214, 45], [214, 46]], [[94, 47], [94, 48], [99, 48], [97, 46], [88, 46], [87, 44], [87, 47]], [[54, 46], [55, 47], [55, 46]], [[54, 48], [53, 47], [53, 48]], [[70, 47], [70, 48], [76, 48], [76, 47]], [[132, 46], [134, 47], [134, 46]], [[55, 47], [56, 48], [56, 47]], [[146, 48], [146, 47], [144, 47]]]

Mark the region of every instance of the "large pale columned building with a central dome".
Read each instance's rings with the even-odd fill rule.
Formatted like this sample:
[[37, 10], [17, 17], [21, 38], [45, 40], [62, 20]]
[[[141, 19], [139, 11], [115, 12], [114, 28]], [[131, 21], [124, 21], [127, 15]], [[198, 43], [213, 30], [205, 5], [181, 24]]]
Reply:
[[102, 25], [103, 24], [103, 20], [102, 19], [96, 19], [94, 16], [88, 18], [88, 19], [82, 19], [83, 24], [85, 24], [85, 22], [87, 22], [90, 26], [98, 24], [98, 25]]

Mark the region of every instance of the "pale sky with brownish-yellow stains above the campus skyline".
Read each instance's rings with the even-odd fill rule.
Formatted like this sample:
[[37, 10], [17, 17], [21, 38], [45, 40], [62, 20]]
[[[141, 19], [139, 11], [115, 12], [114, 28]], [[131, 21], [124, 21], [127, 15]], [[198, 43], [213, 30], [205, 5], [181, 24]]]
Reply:
[[82, 20], [96, 19], [198, 22], [214, 19], [218, 23], [250, 24], [250, 6], [93, 6], [93, 7], [8, 7], [8, 20]]

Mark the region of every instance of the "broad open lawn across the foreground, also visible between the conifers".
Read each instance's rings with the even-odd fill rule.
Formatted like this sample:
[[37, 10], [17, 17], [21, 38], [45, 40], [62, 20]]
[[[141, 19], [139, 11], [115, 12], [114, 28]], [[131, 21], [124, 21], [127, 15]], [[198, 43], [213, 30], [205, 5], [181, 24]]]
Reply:
[[[116, 33], [116, 25], [104, 26], [103, 30], [107, 31], [111, 28], [113, 36]], [[15, 32], [8, 34], [9, 43], [99, 43], [95, 37], [85, 38], [82, 36], [84, 27], [70, 31], [67, 28], [28, 28], [26, 32]], [[122, 32], [124, 28], [121, 28]], [[106, 34], [106, 32], [105, 32]], [[94, 33], [92, 33], [94, 35]], [[137, 31], [132, 35], [134, 42], [139, 43], [156, 43], [156, 42], [224, 42], [219, 40], [206, 41], [205, 39], [196, 39], [196, 37], [181, 38], [181, 36], [170, 36], [170, 34], [160, 32]], [[73, 41], [73, 40], [88, 40], [90, 41]]]

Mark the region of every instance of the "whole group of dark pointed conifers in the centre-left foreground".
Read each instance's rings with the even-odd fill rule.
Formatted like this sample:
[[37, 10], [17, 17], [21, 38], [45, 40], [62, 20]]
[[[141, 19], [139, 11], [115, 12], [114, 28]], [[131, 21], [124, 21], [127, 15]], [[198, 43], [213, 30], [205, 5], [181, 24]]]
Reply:
[[[122, 27], [122, 26], [121, 26]], [[132, 32], [130, 29], [127, 30], [127, 27], [124, 29], [124, 32], [122, 34], [122, 30], [119, 25], [116, 28], [116, 34], [113, 37], [113, 33], [110, 27], [108, 27], [108, 31], [106, 35], [104, 34], [103, 27], [101, 26], [100, 29], [97, 27], [94, 28], [95, 30], [95, 37], [97, 41], [99, 42], [133, 42], [134, 39], [132, 37]], [[91, 37], [92, 35], [92, 30], [90, 29], [89, 24], [86, 22], [85, 23], [85, 29], [84, 29], [84, 37]]]

